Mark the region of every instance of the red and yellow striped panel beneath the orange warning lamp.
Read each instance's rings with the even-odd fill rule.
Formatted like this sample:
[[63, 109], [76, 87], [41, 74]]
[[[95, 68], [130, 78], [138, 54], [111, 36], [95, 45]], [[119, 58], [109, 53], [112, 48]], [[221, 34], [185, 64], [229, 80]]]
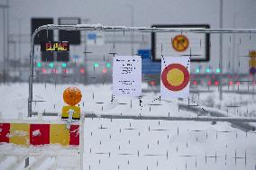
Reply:
[[79, 145], [79, 125], [0, 123], [0, 142], [17, 145]]

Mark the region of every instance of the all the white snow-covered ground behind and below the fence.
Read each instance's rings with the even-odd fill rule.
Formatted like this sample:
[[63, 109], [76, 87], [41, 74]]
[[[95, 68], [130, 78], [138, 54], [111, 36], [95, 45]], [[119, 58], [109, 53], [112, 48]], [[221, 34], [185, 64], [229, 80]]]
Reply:
[[[34, 84], [32, 104], [34, 112], [60, 113], [64, 102], [62, 93], [68, 86], [77, 86], [83, 94], [81, 110], [95, 114], [147, 116], [195, 116], [196, 113], [178, 110], [178, 100], [159, 100], [160, 94], [142, 94], [139, 98], [112, 97], [111, 85], [52, 85]], [[147, 85], [143, 85], [147, 88]], [[254, 96], [224, 94], [224, 102], [213, 93], [192, 96], [200, 105], [212, 104], [230, 116], [255, 116]], [[1, 119], [27, 119], [27, 84], [0, 86]], [[113, 100], [113, 102], [111, 102]], [[245, 103], [247, 101], [247, 103]], [[179, 101], [180, 102], [180, 101]], [[184, 101], [186, 103], [187, 101]], [[242, 104], [243, 103], [243, 104]], [[225, 108], [225, 109], [224, 109]], [[251, 114], [239, 114], [249, 108]], [[239, 112], [231, 110], [239, 109]], [[246, 112], [246, 110], [245, 110]], [[35, 118], [33, 118], [35, 119]], [[43, 119], [59, 119], [45, 117]], [[86, 119], [84, 129], [84, 169], [255, 169], [256, 133], [234, 129], [228, 122], [195, 121], [133, 121]], [[2, 144], [0, 149], [10, 144]], [[18, 150], [25, 148], [18, 148]], [[65, 157], [64, 157], [65, 158]], [[66, 157], [67, 159], [67, 157]], [[15, 161], [9, 157], [1, 169]], [[31, 164], [34, 159], [31, 159]], [[62, 160], [48, 157], [41, 169]], [[54, 163], [55, 162], [55, 163]], [[74, 161], [74, 164], [76, 161]], [[18, 169], [23, 169], [19, 166]]]

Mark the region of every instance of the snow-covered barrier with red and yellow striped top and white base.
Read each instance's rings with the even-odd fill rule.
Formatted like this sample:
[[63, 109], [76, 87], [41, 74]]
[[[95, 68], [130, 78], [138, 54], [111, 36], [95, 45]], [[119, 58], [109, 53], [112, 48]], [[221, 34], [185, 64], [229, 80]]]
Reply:
[[[66, 121], [0, 120], [0, 157], [16, 157], [17, 160], [23, 157], [21, 161], [9, 165], [9, 169], [21, 166], [24, 161], [28, 169], [43, 163], [54, 167], [82, 169], [83, 136], [80, 134], [83, 134], [83, 123], [72, 122], [70, 129], [67, 129]], [[31, 165], [28, 161], [30, 157]], [[51, 162], [53, 160], [55, 163], [52, 164], [46, 158], [42, 161], [40, 157], [50, 157]]]

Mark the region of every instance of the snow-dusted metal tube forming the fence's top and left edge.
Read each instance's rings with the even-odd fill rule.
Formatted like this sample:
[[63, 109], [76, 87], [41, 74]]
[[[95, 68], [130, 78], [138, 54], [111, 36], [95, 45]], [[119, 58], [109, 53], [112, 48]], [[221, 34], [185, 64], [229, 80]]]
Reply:
[[131, 32], [194, 32], [194, 33], [256, 33], [256, 29], [187, 29], [187, 28], [150, 28], [150, 27], [125, 27], [104, 26], [101, 24], [77, 24], [77, 25], [43, 25], [32, 33], [30, 52], [30, 76], [29, 76], [29, 98], [28, 117], [32, 116], [32, 81], [33, 81], [33, 58], [34, 39], [43, 30], [65, 30], [65, 31], [131, 31]]

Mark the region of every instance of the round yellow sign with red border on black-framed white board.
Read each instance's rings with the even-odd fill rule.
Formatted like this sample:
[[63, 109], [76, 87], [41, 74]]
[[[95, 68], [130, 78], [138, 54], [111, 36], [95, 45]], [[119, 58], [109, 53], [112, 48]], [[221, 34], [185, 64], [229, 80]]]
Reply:
[[185, 51], [188, 48], [188, 45], [189, 41], [185, 35], [179, 34], [172, 40], [172, 47], [178, 52]]

